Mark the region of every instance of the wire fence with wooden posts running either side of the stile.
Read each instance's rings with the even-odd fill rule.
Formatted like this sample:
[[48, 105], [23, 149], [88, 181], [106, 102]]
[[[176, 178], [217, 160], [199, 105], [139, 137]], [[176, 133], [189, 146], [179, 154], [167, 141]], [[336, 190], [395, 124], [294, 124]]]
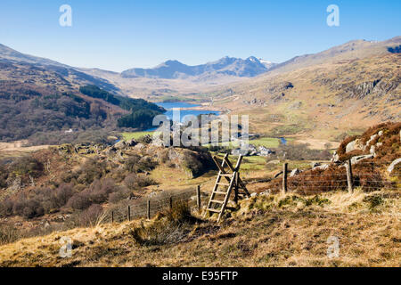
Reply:
[[[392, 191], [399, 194], [401, 191], [401, 173], [399, 170], [386, 174], [383, 169], [389, 164], [358, 162], [352, 165], [329, 166], [329, 168], [315, 168], [301, 171], [297, 175], [290, 175], [291, 169], [283, 164], [282, 175], [276, 178], [264, 178], [261, 181], [253, 180], [248, 183], [264, 183], [264, 192], [294, 192], [299, 194], [319, 194], [327, 191], [353, 192], [356, 188], [363, 191]], [[284, 171], [284, 169], [286, 171]], [[177, 203], [186, 202], [190, 207], [201, 210], [202, 202], [209, 194], [201, 192], [201, 186], [177, 191], [162, 191], [149, 198], [127, 200], [123, 205], [109, 208], [104, 222], [123, 222], [135, 218], [151, 218], [160, 212], [174, 208]], [[233, 193], [232, 193], [233, 196]]]

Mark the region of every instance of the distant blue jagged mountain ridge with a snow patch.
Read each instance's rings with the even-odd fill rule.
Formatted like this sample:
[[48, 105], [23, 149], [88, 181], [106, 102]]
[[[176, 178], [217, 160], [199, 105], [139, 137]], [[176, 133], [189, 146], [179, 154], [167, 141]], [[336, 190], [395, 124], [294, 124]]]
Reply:
[[261, 62], [254, 56], [250, 56], [246, 60], [225, 56], [218, 61], [195, 66], [189, 66], [180, 61], [165, 61], [152, 69], [127, 69], [121, 73], [121, 77], [164, 79], [205, 77], [209, 75], [256, 77], [265, 73], [271, 67], [271, 62]]

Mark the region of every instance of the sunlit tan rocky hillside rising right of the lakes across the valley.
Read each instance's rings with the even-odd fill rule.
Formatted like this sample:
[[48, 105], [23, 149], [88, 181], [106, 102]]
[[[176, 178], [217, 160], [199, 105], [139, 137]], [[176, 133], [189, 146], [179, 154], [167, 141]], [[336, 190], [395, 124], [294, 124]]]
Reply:
[[401, 118], [401, 55], [389, 52], [399, 41], [361, 42], [359, 50], [346, 44], [208, 95], [215, 107], [249, 114], [252, 133], [340, 141]]

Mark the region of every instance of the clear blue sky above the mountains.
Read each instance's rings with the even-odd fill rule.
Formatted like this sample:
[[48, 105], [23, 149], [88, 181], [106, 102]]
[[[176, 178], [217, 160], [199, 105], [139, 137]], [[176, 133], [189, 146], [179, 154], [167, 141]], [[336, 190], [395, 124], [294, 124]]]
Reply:
[[[62, 4], [72, 26], [61, 27]], [[329, 27], [330, 4], [340, 26]], [[75, 67], [122, 71], [224, 56], [282, 62], [354, 39], [400, 36], [401, 1], [1, 0], [0, 44]]]

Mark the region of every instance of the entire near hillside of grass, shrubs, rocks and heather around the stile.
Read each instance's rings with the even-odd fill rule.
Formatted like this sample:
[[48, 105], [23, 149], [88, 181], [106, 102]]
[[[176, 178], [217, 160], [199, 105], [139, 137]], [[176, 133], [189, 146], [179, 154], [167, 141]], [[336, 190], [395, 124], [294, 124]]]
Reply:
[[[201, 184], [205, 209], [216, 175], [209, 152], [148, 140], [37, 151], [0, 172], [7, 174], [0, 187], [9, 185], [0, 204], [0, 265], [399, 266], [400, 134], [400, 123], [372, 126], [341, 142], [330, 166], [291, 159], [300, 169], [285, 194], [275, 191], [280, 160], [259, 168], [245, 158], [241, 176], [253, 194], [230, 202], [220, 224], [192, 207], [193, 197], [160, 207], [163, 197], [188, 187], [193, 195]], [[353, 193], [344, 180], [349, 158]], [[143, 209], [135, 213], [141, 198], [157, 206], [149, 220]], [[124, 222], [127, 205], [135, 221]], [[71, 255], [61, 256], [68, 240]]]

